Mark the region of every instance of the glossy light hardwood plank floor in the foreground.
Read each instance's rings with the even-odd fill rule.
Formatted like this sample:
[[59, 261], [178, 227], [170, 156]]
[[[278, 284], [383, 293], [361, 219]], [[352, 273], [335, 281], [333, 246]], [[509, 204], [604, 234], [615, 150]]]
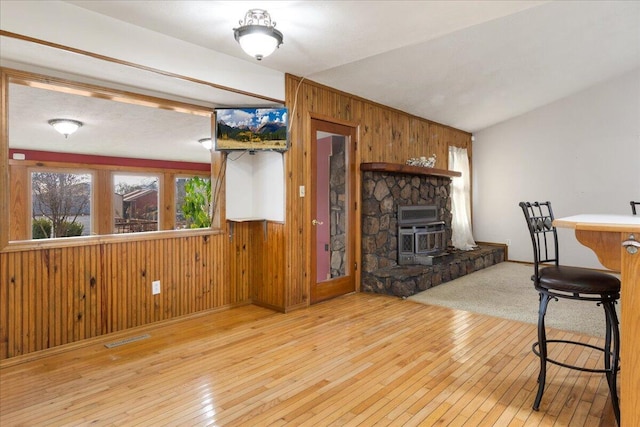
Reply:
[[[612, 425], [599, 374], [552, 366], [531, 409], [534, 336], [534, 325], [382, 295], [289, 314], [245, 306], [3, 361], [0, 425]], [[549, 336], [560, 337], [600, 343]]]

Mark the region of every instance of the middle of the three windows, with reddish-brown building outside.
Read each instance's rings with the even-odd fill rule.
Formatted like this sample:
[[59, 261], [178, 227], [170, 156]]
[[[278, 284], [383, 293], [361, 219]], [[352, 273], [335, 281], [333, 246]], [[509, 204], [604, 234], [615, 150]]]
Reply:
[[113, 175], [114, 233], [158, 230], [158, 177]]

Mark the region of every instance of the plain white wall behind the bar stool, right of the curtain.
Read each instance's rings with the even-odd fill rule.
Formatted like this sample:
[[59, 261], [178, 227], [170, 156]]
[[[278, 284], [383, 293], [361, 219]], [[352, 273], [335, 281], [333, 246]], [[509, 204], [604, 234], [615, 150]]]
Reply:
[[[474, 237], [511, 240], [509, 258], [531, 262], [520, 201], [551, 201], [559, 218], [640, 200], [640, 69], [474, 136]], [[562, 264], [602, 268], [572, 230], [558, 234]]]

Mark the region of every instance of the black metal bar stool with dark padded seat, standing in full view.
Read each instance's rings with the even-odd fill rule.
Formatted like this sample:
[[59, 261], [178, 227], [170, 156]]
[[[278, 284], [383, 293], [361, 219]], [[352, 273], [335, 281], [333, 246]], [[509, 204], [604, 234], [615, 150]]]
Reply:
[[[547, 362], [549, 362], [578, 371], [606, 374], [613, 411], [618, 424], [620, 424], [620, 405], [617, 391], [617, 374], [620, 369], [620, 331], [615, 310], [615, 304], [620, 298], [620, 280], [610, 274], [587, 268], [561, 266], [558, 261], [558, 235], [553, 226], [551, 203], [520, 202], [520, 207], [527, 221], [533, 244], [534, 274], [531, 276], [531, 280], [540, 295], [538, 341], [532, 346], [533, 352], [540, 358], [538, 393], [533, 409], [537, 411], [540, 408], [546, 381]], [[577, 341], [547, 339], [544, 317], [549, 301], [557, 301], [558, 298], [591, 301], [604, 308], [607, 328], [604, 347], [596, 347]], [[550, 359], [547, 356], [547, 345], [550, 343], [566, 343], [600, 350], [604, 353], [604, 368], [589, 369]]]

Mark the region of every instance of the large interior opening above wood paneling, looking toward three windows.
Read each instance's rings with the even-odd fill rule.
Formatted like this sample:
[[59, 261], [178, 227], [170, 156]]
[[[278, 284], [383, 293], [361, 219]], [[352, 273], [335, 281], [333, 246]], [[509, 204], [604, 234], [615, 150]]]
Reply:
[[[198, 141], [211, 136], [211, 108], [0, 72], [8, 106], [8, 120], [0, 123], [8, 166], [6, 179], [0, 177], [7, 191], [2, 244], [210, 227], [210, 219], [188, 219], [174, 206], [174, 181], [210, 181], [212, 153]], [[59, 117], [83, 125], [65, 137], [48, 124]]]

